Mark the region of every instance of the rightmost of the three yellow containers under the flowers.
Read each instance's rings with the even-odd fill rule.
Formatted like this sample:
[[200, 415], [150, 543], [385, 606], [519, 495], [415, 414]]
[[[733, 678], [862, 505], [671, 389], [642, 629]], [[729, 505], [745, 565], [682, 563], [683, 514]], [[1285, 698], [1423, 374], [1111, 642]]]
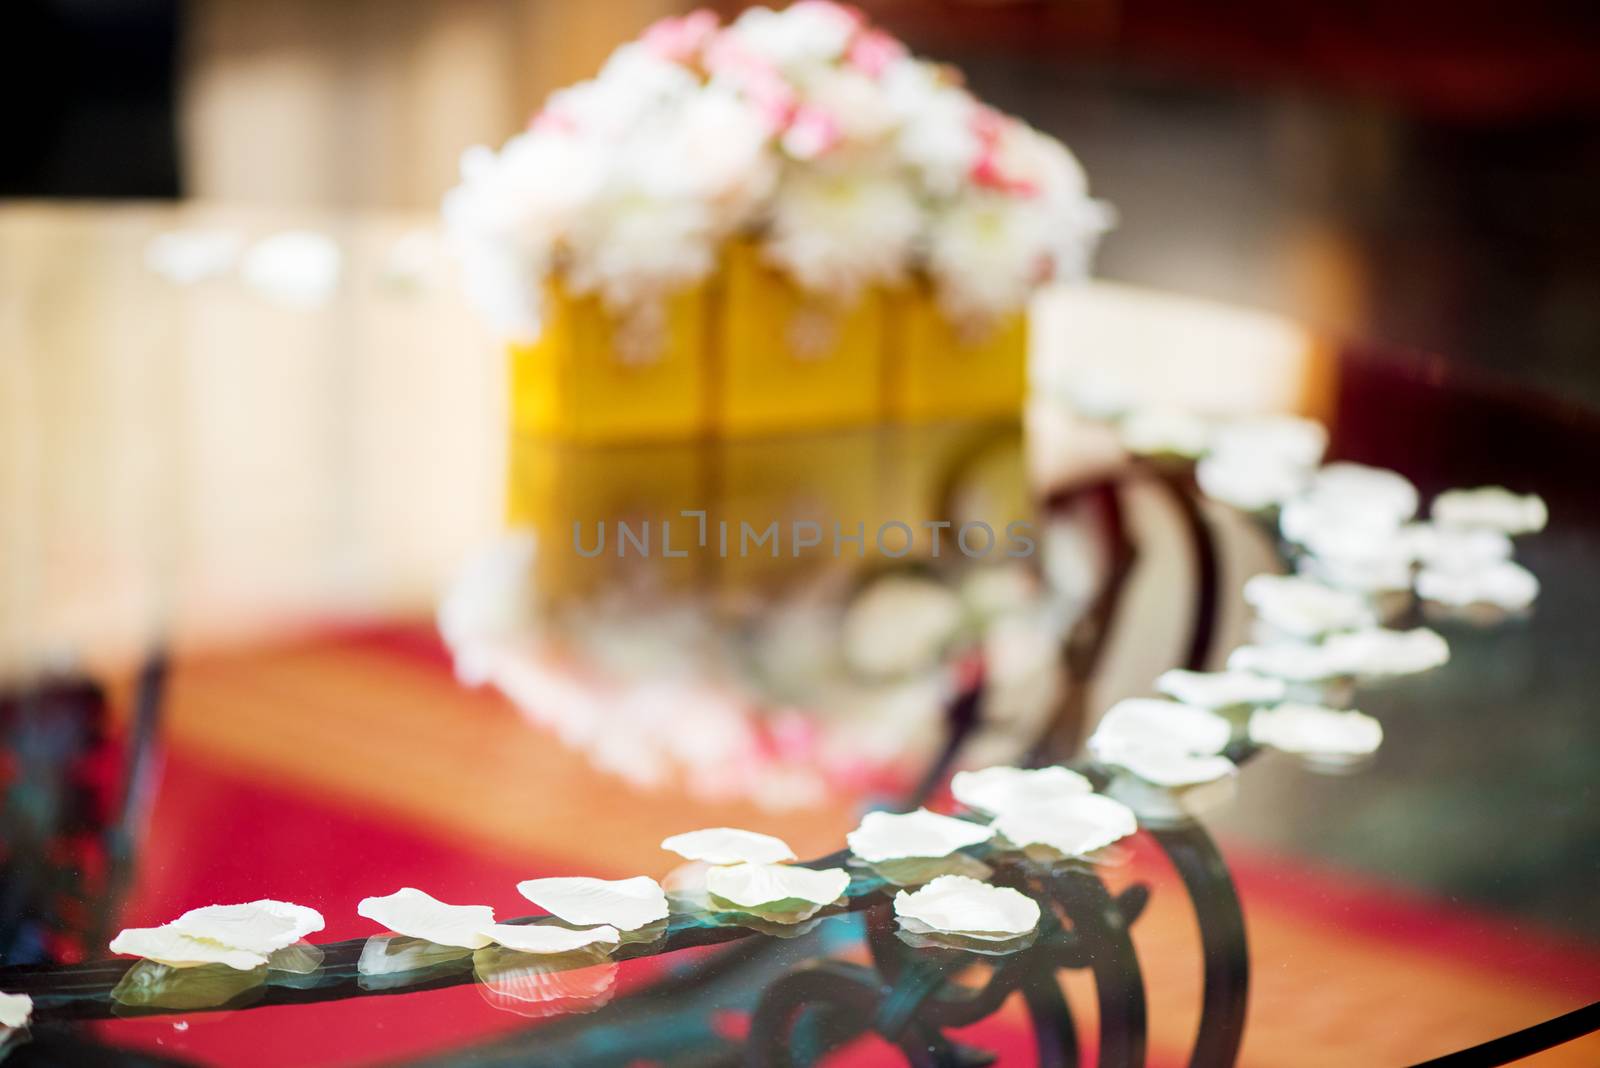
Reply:
[[1027, 315], [978, 333], [952, 323], [926, 286], [894, 297], [885, 401], [902, 422], [1014, 417], [1027, 393]]

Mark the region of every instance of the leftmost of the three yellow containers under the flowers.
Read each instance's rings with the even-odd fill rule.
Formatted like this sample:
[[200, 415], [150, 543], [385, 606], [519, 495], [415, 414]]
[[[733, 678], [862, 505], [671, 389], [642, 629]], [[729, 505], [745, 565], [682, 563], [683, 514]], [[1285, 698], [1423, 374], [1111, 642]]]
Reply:
[[669, 297], [661, 321], [635, 325], [635, 337], [598, 297], [558, 281], [544, 307], [538, 341], [510, 345], [515, 433], [608, 444], [709, 428], [707, 286]]

